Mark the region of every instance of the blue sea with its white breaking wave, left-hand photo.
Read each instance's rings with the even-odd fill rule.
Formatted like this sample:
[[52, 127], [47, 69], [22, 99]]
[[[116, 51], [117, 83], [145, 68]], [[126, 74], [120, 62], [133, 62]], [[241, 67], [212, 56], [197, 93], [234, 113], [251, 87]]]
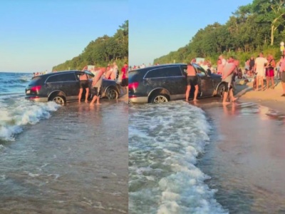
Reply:
[[25, 88], [32, 76], [32, 73], [0, 72], [0, 145], [4, 141], [14, 141], [26, 126], [49, 118], [52, 111], [60, 108], [53, 102], [25, 100]]

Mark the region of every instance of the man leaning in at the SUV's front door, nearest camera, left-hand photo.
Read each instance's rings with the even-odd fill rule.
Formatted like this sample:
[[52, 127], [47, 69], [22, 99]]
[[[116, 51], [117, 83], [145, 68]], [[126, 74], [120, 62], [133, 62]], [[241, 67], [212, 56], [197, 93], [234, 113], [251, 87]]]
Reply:
[[93, 95], [93, 99], [90, 102], [90, 106], [93, 106], [95, 101], [97, 100], [97, 105], [100, 104], [100, 88], [102, 86], [102, 79], [103, 79], [103, 73], [105, 72], [105, 68], [100, 68], [95, 73], [95, 76], [93, 77], [92, 80], [92, 86], [91, 86], [91, 93]]

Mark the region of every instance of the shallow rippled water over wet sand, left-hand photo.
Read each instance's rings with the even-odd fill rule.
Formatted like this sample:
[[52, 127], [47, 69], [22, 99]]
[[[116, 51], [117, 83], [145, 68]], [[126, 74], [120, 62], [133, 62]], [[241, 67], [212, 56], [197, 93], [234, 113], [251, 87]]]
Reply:
[[0, 213], [128, 213], [128, 104], [68, 103], [0, 151]]

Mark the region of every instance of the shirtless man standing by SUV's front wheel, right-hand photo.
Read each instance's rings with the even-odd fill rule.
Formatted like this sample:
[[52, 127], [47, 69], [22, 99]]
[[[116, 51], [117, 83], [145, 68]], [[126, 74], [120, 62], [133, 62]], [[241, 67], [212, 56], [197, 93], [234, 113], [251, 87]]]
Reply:
[[234, 75], [234, 70], [237, 68], [238, 61], [234, 61], [234, 57], [230, 56], [229, 60], [225, 64], [222, 70], [222, 80], [227, 83], [227, 88], [224, 91], [223, 103], [228, 104], [227, 96], [229, 95], [231, 101], [235, 101], [237, 98], [234, 98], [234, 92], [232, 91], [232, 78]]

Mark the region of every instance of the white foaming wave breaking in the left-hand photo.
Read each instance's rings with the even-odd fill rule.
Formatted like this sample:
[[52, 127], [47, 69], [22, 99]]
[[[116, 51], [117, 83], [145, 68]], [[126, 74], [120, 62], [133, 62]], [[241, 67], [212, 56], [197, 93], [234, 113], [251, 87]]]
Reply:
[[14, 141], [15, 135], [23, 131], [23, 126], [49, 118], [50, 112], [58, 108], [60, 105], [54, 102], [36, 103], [24, 98], [10, 100], [9, 103], [0, 100], [0, 141]]

